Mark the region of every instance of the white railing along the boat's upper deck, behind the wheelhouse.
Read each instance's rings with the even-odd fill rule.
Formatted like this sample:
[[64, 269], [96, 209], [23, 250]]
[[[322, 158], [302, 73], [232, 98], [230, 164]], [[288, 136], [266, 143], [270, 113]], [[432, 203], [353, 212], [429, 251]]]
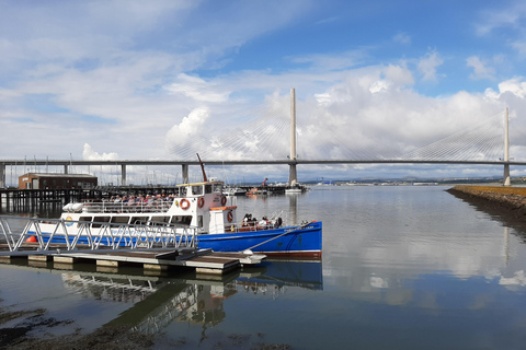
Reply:
[[123, 213], [123, 212], [165, 212], [172, 207], [172, 201], [151, 202], [85, 202], [82, 212], [89, 213]]

